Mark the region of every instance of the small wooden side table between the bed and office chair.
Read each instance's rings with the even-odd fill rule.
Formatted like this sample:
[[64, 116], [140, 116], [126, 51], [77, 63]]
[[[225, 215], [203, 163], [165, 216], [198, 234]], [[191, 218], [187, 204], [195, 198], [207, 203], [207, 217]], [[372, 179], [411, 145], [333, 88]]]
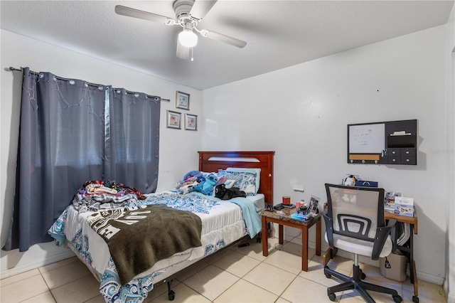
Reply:
[[283, 208], [285, 215], [277, 214], [277, 211], [262, 211], [262, 255], [269, 255], [269, 246], [267, 242], [267, 223], [278, 223], [278, 241], [284, 243], [284, 225], [301, 229], [301, 270], [308, 271], [308, 230], [316, 224], [316, 255], [321, 255], [321, 213], [315, 218], [309, 220], [296, 220], [290, 215], [295, 213], [296, 208]]

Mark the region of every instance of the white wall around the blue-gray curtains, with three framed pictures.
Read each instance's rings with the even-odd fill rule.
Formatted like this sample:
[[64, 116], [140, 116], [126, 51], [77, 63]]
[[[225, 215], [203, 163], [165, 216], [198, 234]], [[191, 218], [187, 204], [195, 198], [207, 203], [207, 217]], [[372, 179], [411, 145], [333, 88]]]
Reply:
[[[189, 113], [200, 115], [200, 90], [1, 30], [2, 106], [0, 108], [3, 127], [3, 138], [0, 144], [1, 246], [6, 240], [12, 211], [21, 100], [21, 73], [6, 71], [5, 68], [9, 66], [14, 68], [28, 66], [31, 70], [48, 71], [64, 78], [124, 87], [130, 91], [145, 92], [171, 99], [171, 102], [161, 102], [158, 191], [172, 188], [186, 172], [197, 169], [197, 150], [201, 132], [166, 128], [166, 110], [176, 110], [175, 96], [176, 91], [180, 90], [191, 95]], [[68, 255], [71, 255], [69, 250], [56, 248], [53, 243], [33, 245], [25, 253], [19, 253], [17, 250], [11, 252], [1, 250], [1, 277], [55, 262]]]

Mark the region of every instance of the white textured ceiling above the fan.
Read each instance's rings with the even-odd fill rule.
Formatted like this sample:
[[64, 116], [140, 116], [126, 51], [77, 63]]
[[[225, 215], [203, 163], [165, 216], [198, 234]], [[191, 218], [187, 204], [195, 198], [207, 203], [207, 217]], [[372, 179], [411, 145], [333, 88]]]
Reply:
[[176, 57], [179, 26], [119, 16], [121, 4], [174, 18], [173, 1], [4, 1], [1, 28], [203, 90], [447, 23], [454, 1], [228, 1], [200, 21], [247, 41], [199, 38]]

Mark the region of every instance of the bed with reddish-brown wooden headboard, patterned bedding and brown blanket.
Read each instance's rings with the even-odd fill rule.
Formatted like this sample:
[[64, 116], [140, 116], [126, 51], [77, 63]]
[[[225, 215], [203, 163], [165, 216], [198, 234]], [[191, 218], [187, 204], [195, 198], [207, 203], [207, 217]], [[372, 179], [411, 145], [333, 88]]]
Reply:
[[81, 212], [72, 204], [50, 228], [57, 245], [68, 245], [100, 281], [107, 302], [142, 302], [161, 283], [168, 284], [172, 300], [171, 282], [181, 270], [260, 233], [259, 213], [272, 204], [274, 151], [198, 154], [198, 169], [205, 177], [223, 176], [231, 185], [237, 177], [259, 180], [248, 179], [255, 186], [251, 192], [245, 189], [246, 198], [227, 201], [173, 190], [145, 195], [140, 203], [123, 208]]

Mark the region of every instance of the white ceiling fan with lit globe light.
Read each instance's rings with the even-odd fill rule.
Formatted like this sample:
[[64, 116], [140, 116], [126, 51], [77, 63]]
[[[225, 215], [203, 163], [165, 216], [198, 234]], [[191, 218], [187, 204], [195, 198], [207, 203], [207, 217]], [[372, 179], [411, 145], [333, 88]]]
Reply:
[[237, 48], [243, 48], [247, 45], [245, 41], [230, 36], [208, 31], [206, 29], [199, 30], [196, 28], [198, 23], [212, 9], [217, 0], [176, 0], [173, 2], [173, 11], [176, 13], [176, 19], [161, 16], [159, 14], [149, 13], [148, 11], [140, 11], [131, 7], [117, 5], [115, 12], [122, 16], [140, 18], [148, 21], [164, 23], [168, 26], [179, 25], [183, 31], [178, 34], [177, 57], [182, 59], [190, 58], [190, 50], [198, 43], [198, 36], [194, 31], [200, 33], [200, 36], [210, 38], [216, 41], [228, 43]]

